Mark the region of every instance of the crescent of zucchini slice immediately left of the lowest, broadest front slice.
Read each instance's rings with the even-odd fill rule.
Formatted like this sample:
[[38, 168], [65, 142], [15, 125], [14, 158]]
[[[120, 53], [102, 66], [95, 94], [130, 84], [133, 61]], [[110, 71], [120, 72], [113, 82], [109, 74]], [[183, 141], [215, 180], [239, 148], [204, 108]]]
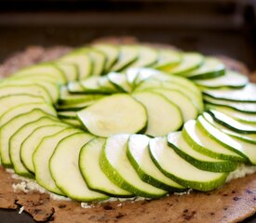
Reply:
[[65, 128], [52, 136], [43, 138], [33, 153], [34, 175], [36, 182], [45, 189], [63, 195], [56, 186], [49, 170], [49, 160], [61, 139], [81, 132], [76, 128]]

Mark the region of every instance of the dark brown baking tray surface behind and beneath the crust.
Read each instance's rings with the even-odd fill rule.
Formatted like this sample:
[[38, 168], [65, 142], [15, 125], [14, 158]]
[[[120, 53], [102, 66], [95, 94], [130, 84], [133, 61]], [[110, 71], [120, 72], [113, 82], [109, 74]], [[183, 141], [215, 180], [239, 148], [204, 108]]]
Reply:
[[[255, 1], [2, 0], [0, 62], [26, 46], [79, 46], [106, 35], [131, 35], [184, 50], [226, 55], [256, 70]], [[30, 223], [0, 210], [0, 223]], [[256, 216], [245, 222], [256, 223]]]

